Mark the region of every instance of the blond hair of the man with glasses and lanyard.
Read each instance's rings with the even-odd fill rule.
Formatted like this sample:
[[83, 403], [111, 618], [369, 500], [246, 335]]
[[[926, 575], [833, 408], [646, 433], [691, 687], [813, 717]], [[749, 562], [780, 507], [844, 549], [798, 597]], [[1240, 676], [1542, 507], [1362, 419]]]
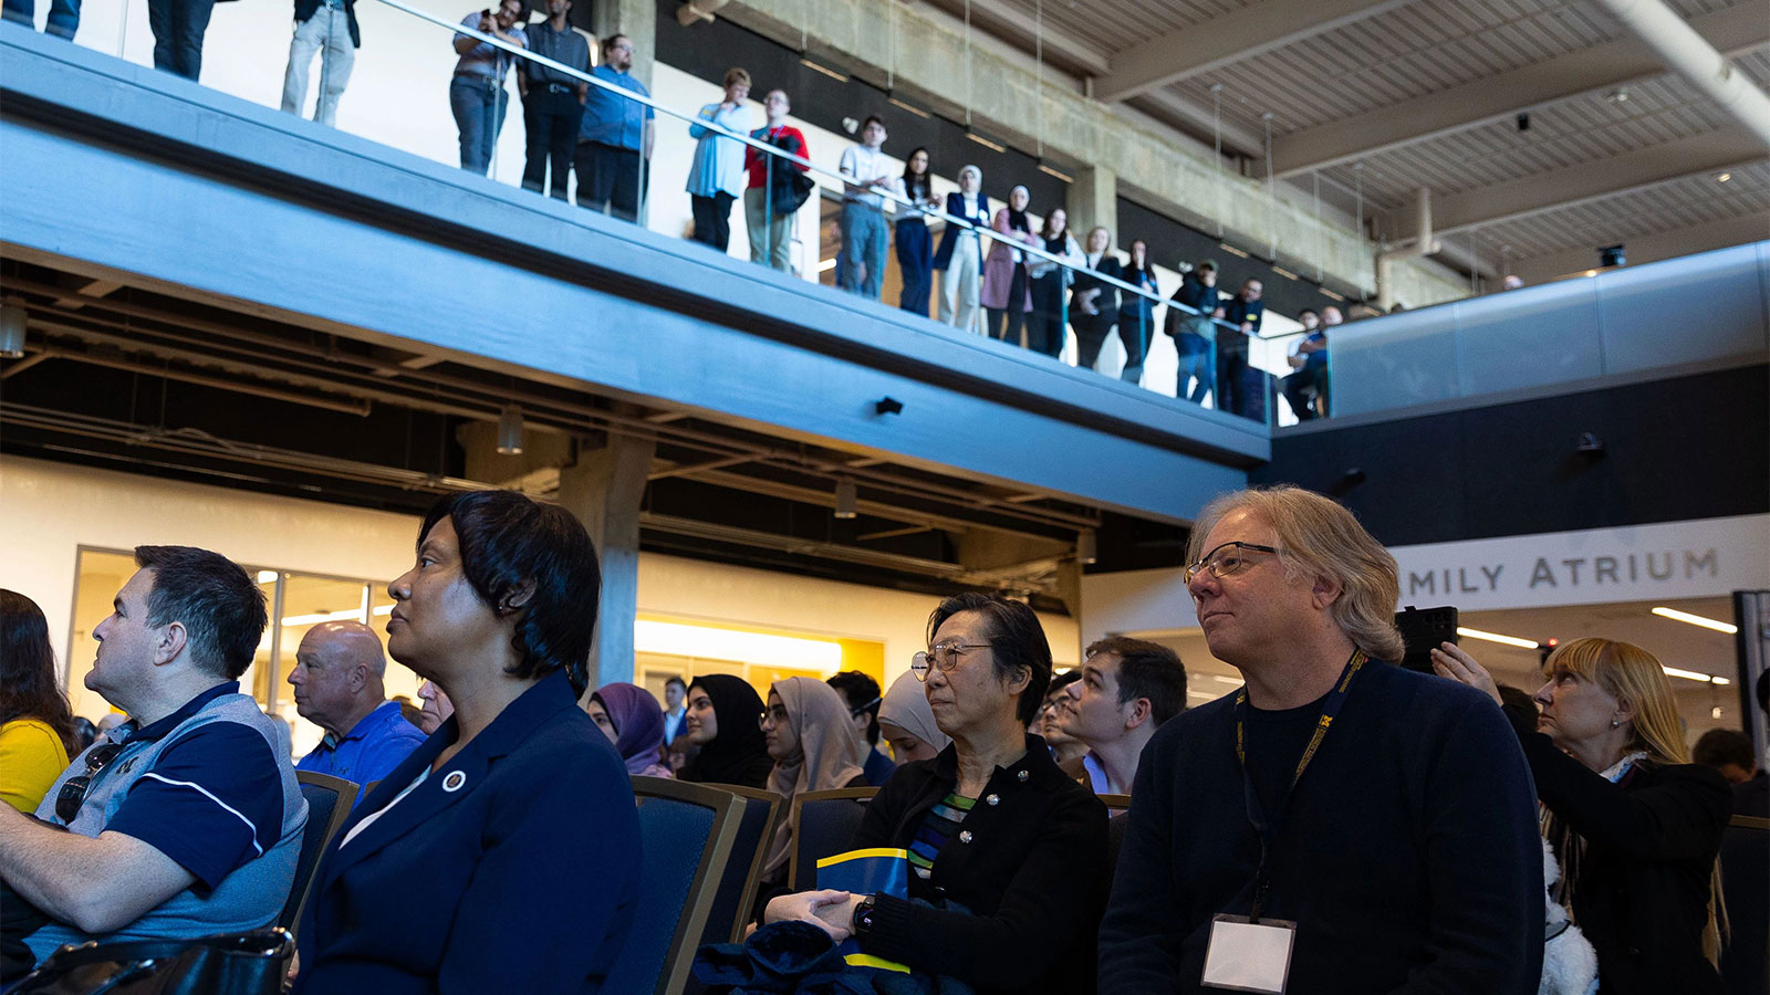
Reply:
[[1402, 584], [1395, 558], [1329, 498], [1301, 487], [1255, 487], [1212, 499], [1198, 512], [1186, 561], [1209, 552], [1205, 536], [1230, 512], [1248, 512], [1278, 533], [1278, 559], [1290, 577], [1326, 577], [1340, 588], [1329, 614], [1352, 644], [1377, 660], [1400, 662], [1395, 604]]

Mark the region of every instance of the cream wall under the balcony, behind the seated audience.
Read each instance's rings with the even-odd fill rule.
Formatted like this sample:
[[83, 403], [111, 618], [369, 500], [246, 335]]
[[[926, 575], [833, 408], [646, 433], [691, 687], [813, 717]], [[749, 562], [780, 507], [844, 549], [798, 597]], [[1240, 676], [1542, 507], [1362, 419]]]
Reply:
[[[104, 469], [7, 457], [0, 515], [9, 522], [0, 586], [42, 605], [58, 659], [71, 644], [78, 549], [179, 544], [253, 567], [393, 579], [412, 559], [418, 517], [274, 498]], [[643, 554], [639, 611], [885, 643], [896, 678], [924, 648], [933, 597]], [[1069, 618], [1043, 616], [1058, 666], [1074, 666]]]

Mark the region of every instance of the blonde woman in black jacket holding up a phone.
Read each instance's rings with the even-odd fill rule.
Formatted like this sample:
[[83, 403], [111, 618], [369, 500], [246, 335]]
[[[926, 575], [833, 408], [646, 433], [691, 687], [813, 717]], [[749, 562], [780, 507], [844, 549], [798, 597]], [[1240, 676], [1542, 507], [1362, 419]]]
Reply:
[[[1434, 650], [1432, 666], [1499, 705], [1492, 675], [1455, 644]], [[1653, 653], [1574, 639], [1549, 653], [1543, 678], [1540, 717], [1504, 715], [1549, 813], [1543, 834], [1561, 862], [1554, 898], [1598, 953], [1598, 988], [1720, 995], [1726, 912], [1715, 860], [1733, 790], [1720, 772], [1690, 763]]]

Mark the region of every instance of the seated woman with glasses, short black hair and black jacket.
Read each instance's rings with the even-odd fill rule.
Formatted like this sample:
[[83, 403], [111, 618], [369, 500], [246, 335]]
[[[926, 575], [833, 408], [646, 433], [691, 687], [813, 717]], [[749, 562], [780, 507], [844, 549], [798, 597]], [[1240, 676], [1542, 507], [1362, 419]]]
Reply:
[[1021, 602], [966, 593], [929, 618], [913, 673], [952, 737], [867, 804], [853, 848], [908, 850], [908, 898], [814, 891], [775, 898], [765, 922], [821, 924], [867, 956], [981, 995], [1087, 995], [1106, 889], [1106, 807], [1027, 733], [1051, 648]]

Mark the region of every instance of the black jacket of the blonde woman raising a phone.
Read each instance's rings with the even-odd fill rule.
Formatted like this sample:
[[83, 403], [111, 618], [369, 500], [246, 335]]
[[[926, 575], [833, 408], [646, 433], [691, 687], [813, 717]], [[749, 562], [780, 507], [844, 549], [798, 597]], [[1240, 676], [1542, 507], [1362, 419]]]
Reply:
[[[1519, 729], [1536, 795], [1586, 839], [1574, 919], [1598, 953], [1600, 988], [1616, 995], [1719, 995], [1703, 956], [1708, 889], [1733, 790], [1708, 767], [1637, 763], [1620, 784], [1536, 731]], [[1563, 868], [1566, 855], [1556, 853]]]

